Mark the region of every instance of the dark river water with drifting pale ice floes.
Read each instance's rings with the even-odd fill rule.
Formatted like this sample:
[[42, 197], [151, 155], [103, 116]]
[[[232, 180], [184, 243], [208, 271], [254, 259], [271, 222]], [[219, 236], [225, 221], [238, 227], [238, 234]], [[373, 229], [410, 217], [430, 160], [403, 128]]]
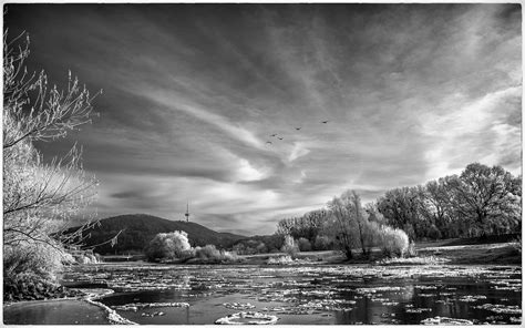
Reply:
[[106, 284], [115, 293], [100, 301], [147, 325], [214, 324], [243, 311], [279, 325], [446, 324], [443, 317], [516, 325], [522, 317], [521, 267], [106, 264], [64, 279]]

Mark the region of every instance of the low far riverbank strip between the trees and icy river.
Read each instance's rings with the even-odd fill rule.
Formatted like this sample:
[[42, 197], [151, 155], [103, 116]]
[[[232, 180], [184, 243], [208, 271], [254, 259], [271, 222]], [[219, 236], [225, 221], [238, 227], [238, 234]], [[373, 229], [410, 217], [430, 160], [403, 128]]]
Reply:
[[[298, 252], [289, 260], [286, 253], [266, 253], [254, 255], [233, 255], [228, 258], [182, 258], [162, 262], [162, 265], [302, 265], [302, 264], [500, 264], [519, 265], [522, 256], [518, 252], [521, 243], [515, 242], [517, 234], [483, 236], [473, 238], [451, 238], [434, 242], [418, 242], [415, 256], [409, 258], [388, 258], [379, 248], [363, 256], [361, 249], [353, 249], [353, 258], [348, 259], [338, 250]], [[142, 262], [141, 255], [103, 256], [107, 263]]]

